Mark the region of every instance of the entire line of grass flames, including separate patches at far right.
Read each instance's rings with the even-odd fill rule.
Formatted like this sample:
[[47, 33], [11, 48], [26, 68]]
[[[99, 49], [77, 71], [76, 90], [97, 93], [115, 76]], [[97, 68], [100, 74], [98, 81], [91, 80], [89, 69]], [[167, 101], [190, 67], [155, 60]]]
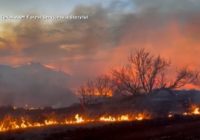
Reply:
[[[173, 117], [173, 113], [169, 113], [168, 118]], [[200, 115], [200, 108], [196, 105], [192, 105], [190, 111], [183, 112], [181, 115]], [[66, 118], [65, 120], [58, 120], [50, 118], [43, 120], [42, 122], [33, 121], [30, 118], [19, 117], [15, 118], [11, 115], [5, 116], [0, 121], [0, 132], [6, 132], [17, 129], [37, 128], [45, 126], [59, 126], [59, 125], [77, 125], [77, 124], [88, 124], [88, 123], [115, 123], [124, 121], [142, 121], [150, 120], [153, 117], [148, 112], [138, 114], [122, 114], [122, 115], [102, 115], [97, 118], [88, 118], [80, 114], [75, 114], [73, 118]]]

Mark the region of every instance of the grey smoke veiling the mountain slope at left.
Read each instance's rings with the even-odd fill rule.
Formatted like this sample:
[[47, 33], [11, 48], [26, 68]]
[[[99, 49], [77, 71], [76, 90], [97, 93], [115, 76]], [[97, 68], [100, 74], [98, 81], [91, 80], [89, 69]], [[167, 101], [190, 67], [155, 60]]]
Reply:
[[69, 89], [70, 76], [39, 63], [0, 66], [0, 105], [62, 107], [77, 101]]

